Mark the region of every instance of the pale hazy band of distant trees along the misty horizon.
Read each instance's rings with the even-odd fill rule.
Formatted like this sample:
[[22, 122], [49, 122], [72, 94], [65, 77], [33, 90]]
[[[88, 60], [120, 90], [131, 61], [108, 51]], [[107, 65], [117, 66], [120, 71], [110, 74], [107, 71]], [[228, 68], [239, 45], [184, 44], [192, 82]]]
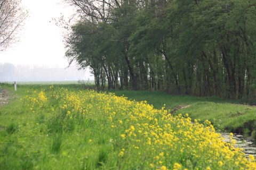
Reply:
[[0, 63], [0, 82], [7, 81], [77, 81], [94, 80], [89, 71], [70, 67], [13, 65]]

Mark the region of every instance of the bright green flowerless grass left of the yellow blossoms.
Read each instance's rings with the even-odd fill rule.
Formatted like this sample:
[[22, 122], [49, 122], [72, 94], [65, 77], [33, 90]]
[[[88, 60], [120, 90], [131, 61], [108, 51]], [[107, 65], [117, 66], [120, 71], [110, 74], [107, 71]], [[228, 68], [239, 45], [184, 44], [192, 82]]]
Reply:
[[[20, 99], [31, 96], [34, 90], [46, 89], [49, 85], [18, 84], [17, 91], [14, 91], [11, 84], [2, 83], [1, 86], [8, 90], [8, 94], [12, 97], [9, 99], [9, 104], [0, 106], [0, 169], [37, 169], [38, 167], [41, 167], [39, 169], [85, 169], [85, 167], [93, 169], [91, 167], [95, 162], [97, 163], [95, 159], [98, 159], [99, 151], [98, 148], [91, 147], [88, 140], [98, 140], [93, 134], [100, 133], [103, 136], [102, 131], [98, 132], [97, 129], [93, 129], [93, 132], [90, 132], [80, 128], [76, 129], [79, 132], [82, 131], [81, 136], [78, 137], [77, 131], [69, 133], [75, 128], [74, 122], [63, 121], [60, 113], [53, 114], [48, 111], [38, 114], [38, 111], [36, 114], [31, 114], [23, 112], [22, 108], [25, 104]], [[76, 91], [82, 89], [79, 84], [54, 86]], [[91, 126], [90, 120], [89, 118], [89, 122], [83, 128], [86, 128], [86, 125]], [[82, 139], [82, 136], [85, 138]], [[76, 147], [74, 148], [74, 146]], [[87, 148], [82, 150], [88, 153], [79, 152], [81, 148]], [[84, 155], [87, 156], [84, 157]], [[69, 168], [60, 166], [60, 163], [56, 161], [60, 157], [63, 162], [70, 162]], [[101, 154], [99, 160], [104, 160], [104, 155]], [[48, 164], [45, 164], [46, 161]], [[35, 166], [35, 162], [39, 162], [39, 164]]]

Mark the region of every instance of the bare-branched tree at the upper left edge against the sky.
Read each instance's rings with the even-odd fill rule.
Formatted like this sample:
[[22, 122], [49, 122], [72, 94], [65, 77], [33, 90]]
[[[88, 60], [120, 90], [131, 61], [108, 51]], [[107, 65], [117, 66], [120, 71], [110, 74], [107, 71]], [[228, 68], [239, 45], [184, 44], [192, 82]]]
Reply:
[[17, 40], [17, 31], [28, 14], [20, 4], [21, 0], [0, 1], [0, 50]]

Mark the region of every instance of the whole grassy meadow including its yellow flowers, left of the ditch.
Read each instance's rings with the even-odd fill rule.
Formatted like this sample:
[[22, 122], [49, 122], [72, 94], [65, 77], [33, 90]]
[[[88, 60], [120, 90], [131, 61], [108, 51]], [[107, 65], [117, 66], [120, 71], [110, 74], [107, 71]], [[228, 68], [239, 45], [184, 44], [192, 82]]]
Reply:
[[0, 169], [256, 168], [209, 121], [71, 85], [4, 88], [16, 98], [0, 107]]

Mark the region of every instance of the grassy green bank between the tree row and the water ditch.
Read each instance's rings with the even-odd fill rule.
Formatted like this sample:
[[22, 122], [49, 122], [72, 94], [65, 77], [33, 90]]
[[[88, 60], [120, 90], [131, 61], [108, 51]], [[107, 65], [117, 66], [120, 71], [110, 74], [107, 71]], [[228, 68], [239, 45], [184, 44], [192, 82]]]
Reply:
[[189, 95], [170, 95], [157, 91], [112, 90], [117, 96], [126, 96], [130, 100], [147, 100], [150, 105], [161, 109], [174, 109], [178, 105], [190, 105], [173, 113], [189, 114], [192, 119], [210, 120], [214, 128], [221, 131], [243, 133], [249, 129], [249, 135], [256, 129], [256, 107], [237, 105], [242, 100], [224, 100], [218, 97], [195, 97]]

